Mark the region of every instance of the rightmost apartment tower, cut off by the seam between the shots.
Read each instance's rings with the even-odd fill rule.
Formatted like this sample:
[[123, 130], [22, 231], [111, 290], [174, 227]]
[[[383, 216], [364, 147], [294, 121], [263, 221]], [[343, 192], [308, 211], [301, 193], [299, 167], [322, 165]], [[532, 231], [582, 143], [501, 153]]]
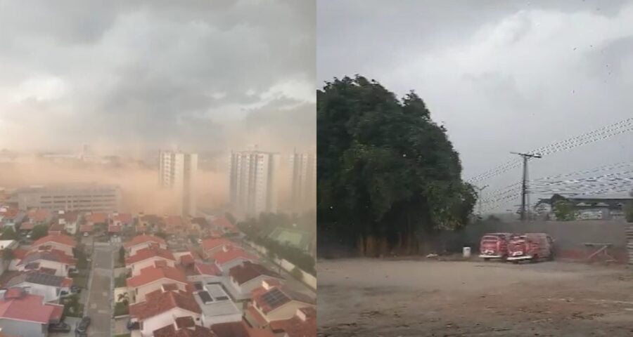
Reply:
[[316, 207], [316, 154], [290, 155], [290, 203], [293, 211]]

